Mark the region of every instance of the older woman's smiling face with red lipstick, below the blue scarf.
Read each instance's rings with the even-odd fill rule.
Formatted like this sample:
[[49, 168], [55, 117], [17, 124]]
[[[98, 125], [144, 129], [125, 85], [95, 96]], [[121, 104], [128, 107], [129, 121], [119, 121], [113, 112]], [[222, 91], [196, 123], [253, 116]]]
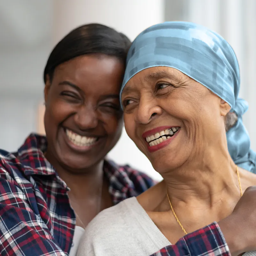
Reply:
[[124, 87], [122, 104], [128, 136], [160, 173], [204, 157], [225, 136], [227, 103], [174, 68], [140, 71]]

